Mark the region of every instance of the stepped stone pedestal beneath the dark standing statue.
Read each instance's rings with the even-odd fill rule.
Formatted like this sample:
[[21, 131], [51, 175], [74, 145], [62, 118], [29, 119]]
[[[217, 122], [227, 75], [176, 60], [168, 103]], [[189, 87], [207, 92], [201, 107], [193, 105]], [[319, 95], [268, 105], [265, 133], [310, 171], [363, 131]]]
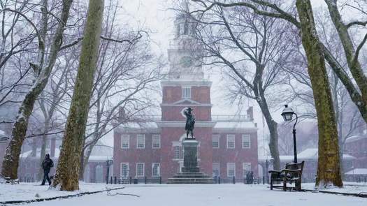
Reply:
[[198, 166], [198, 146], [196, 139], [185, 139], [182, 142], [184, 149], [184, 165], [181, 172], [168, 178], [167, 184], [213, 184], [213, 177], [200, 172]]

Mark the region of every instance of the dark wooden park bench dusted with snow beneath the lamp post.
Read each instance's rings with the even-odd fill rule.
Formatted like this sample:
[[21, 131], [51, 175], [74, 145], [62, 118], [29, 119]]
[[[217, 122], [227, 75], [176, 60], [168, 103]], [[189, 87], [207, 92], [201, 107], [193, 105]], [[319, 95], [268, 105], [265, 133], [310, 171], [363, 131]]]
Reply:
[[[270, 179], [270, 189], [273, 188], [282, 188], [284, 191], [288, 189], [297, 189], [301, 191], [301, 182], [302, 182], [302, 171], [303, 165], [305, 161], [301, 163], [287, 163], [285, 164], [284, 170], [270, 170], [269, 173], [271, 174]], [[294, 182], [294, 186], [288, 186], [287, 183], [292, 184]], [[281, 184], [282, 185], [274, 185], [274, 184]]]

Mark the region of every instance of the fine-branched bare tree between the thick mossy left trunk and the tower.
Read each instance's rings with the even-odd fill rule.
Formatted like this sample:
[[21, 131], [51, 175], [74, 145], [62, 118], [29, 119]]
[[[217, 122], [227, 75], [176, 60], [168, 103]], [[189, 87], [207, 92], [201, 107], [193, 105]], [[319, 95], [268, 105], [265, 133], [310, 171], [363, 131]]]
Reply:
[[[82, 148], [80, 179], [99, 139], [115, 126], [131, 121], [134, 116], [154, 106], [150, 95], [145, 92], [155, 89], [151, 82], [160, 79], [161, 63], [149, 50], [148, 36], [142, 36], [145, 31], [129, 31], [131, 29], [127, 25], [118, 27], [115, 21], [118, 8], [117, 1], [110, 1], [105, 11], [104, 39], [99, 48], [89, 105], [89, 126]], [[117, 39], [126, 41], [113, 41]], [[125, 112], [123, 119], [118, 115], [121, 109]]]

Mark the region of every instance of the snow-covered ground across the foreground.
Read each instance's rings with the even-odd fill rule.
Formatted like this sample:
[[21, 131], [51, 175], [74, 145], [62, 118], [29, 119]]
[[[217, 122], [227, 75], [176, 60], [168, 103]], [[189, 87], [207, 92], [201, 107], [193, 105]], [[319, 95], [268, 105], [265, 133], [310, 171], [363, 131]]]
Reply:
[[[117, 185], [122, 186], [122, 185]], [[4, 189], [6, 187], [8, 189]], [[108, 185], [109, 188], [113, 186]], [[360, 189], [367, 191], [367, 185], [361, 185]], [[81, 184], [80, 191], [97, 191], [106, 189], [105, 184]], [[34, 198], [38, 193], [41, 197], [61, 196], [70, 192], [49, 191], [42, 186], [20, 184], [15, 186], [1, 185], [0, 202], [3, 200], [19, 200], [21, 198]], [[78, 193], [76, 191], [73, 193]], [[15, 193], [17, 192], [17, 193]], [[27, 194], [28, 193], [28, 194]], [[118, 194], [117, 194], [118, 193]], [[124, 195], [125, 194], [125, 195]], [[135, 196], [131, 196], [135, 195]], [[29, 205], [333, 205], [333, 206], [359, 206], [367, 205], [367, 198], [353, 196], [341, 196], [325, 193], [281, 191], [268, 189], [267, 185], [248, 184], [210, 184], [210, 185], [168, 185], [168, 184], [138, 184], [125, 185], [124, 189], [110, 191], [109, 193], [96, 193], [81, 197], [50, 200], [45, 202], [30, 203]]]

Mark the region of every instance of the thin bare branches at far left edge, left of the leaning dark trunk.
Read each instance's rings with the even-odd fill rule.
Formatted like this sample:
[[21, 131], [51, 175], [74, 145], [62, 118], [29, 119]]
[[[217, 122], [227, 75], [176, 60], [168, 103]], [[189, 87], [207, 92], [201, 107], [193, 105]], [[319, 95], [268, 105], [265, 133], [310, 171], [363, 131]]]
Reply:
[[[37, 52], [34, 49], [37, 48], [37, 30], [29, 16], [35, 7], [29, 1], [0, 2], [0, 107], [21, 103], [22, 90], [31, 86], [28, 62], [32, 60], [29, 53]], [[10, 76], [12, 78], [8, 78]], [[13, 119], [2, 120], [2, 123], [13, 123]]]

